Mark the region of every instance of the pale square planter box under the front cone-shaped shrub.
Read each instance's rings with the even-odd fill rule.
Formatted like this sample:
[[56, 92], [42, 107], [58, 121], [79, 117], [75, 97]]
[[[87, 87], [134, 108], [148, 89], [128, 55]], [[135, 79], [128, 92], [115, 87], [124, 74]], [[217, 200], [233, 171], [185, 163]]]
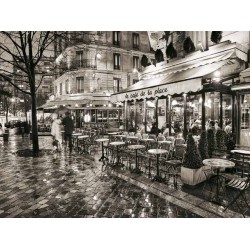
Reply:
[[184, 184], [195, 186], [206, 180], [206, 175], [204, 174], [204, 170], [206, 170], [206, 174], [212, 176], [212, 172], [209, 170], [211, 167], [202, 166], [198, 169], [190, 169], [181, 167], [181, 180]]

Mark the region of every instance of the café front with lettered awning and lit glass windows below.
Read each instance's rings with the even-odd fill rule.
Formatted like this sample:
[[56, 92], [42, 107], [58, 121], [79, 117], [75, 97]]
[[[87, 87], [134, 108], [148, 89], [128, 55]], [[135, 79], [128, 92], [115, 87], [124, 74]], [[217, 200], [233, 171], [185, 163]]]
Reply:
[[140, 81], [111, 95], [113, 103], [123, 103], [125, 128], [143, 127], [149, 132], [153, 123], [169, 127], [169, 134], [186, 138], [197, 124], [198, 133], [210, 120], [220, 128], [231, 123], [238, 130], [239, 100], [231, 87], [245, 69], [247, 50], [229, 41], [197, 51], [169, 63], [145, 68]]

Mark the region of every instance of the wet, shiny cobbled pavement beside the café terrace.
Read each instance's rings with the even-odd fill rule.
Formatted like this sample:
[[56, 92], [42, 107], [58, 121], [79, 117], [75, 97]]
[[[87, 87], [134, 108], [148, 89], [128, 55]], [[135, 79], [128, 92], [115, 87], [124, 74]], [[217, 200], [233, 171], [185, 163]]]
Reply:
[[54, 153], [50, 136], [39, 136], [39, 145], [47, 150], [44, 156], [20, 157], [17, 150], [32, 148], [28, 137], [0, 139], [1, 218], [202, 217], [141, 182], [129, 182], [124, 171], [102, 172], [99, 155]]

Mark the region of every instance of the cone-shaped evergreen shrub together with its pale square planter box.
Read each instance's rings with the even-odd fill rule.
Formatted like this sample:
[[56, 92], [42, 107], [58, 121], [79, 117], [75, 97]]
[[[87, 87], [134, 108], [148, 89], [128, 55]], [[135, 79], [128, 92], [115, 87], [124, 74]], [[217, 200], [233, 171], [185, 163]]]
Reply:
[[181, 167], [181, 180], [184, 184], [195, 186], [206, 180], [203, 171], [202, 158], [194, 141], [193, 135], [188, 134], [187, 150]]

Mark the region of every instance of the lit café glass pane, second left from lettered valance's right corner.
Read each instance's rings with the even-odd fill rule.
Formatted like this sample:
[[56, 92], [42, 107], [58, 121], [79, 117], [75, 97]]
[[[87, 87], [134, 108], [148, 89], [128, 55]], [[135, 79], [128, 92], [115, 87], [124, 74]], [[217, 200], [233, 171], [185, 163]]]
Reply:
[[171, 102], [171, 121], [172, 128], [175, 134], [180, 134], [183, 131], [184, 123], [184, 103], [183, 96], [173, 97]]

